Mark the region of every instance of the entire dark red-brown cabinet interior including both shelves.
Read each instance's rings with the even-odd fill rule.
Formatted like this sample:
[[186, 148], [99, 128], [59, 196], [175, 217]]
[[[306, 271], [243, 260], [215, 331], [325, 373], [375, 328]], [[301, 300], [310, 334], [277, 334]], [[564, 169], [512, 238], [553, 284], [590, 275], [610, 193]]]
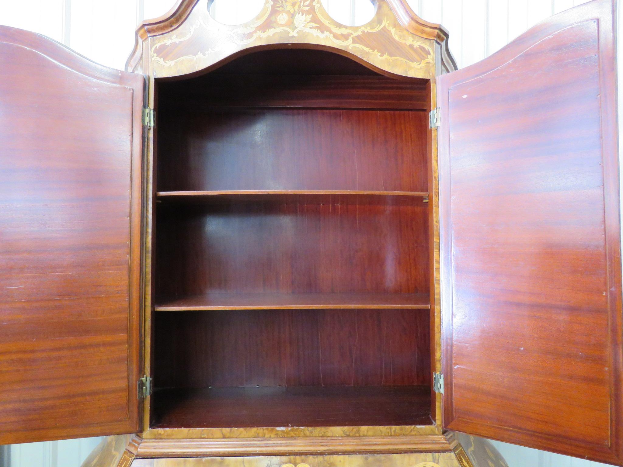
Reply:
[[426, 82], [271, 50], [156, 93], [153, 426], [431, 423]]

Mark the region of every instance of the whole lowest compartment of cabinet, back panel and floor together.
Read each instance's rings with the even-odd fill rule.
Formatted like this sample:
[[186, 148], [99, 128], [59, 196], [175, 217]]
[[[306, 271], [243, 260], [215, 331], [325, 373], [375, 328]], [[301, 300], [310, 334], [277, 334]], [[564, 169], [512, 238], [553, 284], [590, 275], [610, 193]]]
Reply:
[[157, 313], [155, 426], [430, 423], [429, 321], [413, 309]]

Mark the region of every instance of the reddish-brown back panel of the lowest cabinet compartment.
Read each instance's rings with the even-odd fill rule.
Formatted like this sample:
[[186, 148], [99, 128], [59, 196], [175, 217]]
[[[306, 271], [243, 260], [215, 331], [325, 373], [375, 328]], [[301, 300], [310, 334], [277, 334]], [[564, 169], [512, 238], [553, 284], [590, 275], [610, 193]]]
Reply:
[[156, 313], [155, 386], [430, 385], [429, 319], [402, 309]]

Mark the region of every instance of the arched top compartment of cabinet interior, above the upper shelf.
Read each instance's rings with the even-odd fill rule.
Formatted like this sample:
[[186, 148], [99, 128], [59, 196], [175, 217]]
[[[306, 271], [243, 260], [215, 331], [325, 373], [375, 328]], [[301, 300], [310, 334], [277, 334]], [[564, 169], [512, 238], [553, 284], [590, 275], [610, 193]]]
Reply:
[[280, 49], [156, 84], [160, 192], [428, 191], [425, 80]]

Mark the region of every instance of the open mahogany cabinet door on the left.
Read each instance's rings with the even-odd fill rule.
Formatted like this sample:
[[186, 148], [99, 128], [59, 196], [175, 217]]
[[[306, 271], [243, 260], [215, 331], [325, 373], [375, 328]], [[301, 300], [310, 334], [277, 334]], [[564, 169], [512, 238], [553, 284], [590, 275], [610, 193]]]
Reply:
[[138, 430], [141, 75], [0, 27], [0, 443]]

